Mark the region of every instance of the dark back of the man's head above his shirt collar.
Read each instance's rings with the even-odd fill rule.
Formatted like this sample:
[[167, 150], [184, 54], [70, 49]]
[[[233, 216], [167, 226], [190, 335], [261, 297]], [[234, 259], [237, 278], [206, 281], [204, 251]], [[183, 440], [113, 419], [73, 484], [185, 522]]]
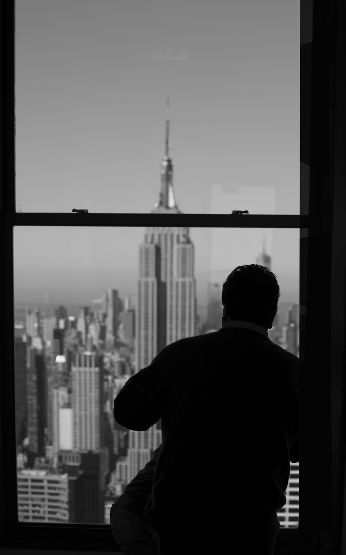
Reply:
[[237, 266], [223, 285], [221, 300], [225, 307], [224, 317], [270, 329], [280, 295], [276, 275], [266, 266]]

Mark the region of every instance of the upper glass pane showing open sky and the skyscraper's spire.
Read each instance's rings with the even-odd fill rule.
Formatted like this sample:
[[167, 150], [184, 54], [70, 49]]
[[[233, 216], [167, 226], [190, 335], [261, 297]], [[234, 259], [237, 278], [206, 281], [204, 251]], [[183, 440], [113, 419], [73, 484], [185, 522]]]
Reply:
[[16, 0], [17, 210], [298, 214], [299, 10]]

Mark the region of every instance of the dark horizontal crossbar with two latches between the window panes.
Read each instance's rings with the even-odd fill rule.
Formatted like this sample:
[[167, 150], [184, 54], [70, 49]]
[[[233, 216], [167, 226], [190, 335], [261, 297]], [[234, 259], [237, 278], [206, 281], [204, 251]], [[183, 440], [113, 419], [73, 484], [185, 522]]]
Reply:
[[188, 226], [190, 228], [308, 228], [318, 216], [271, 214], [60, 214], [7, 213], [4, 224], [51, 226]]

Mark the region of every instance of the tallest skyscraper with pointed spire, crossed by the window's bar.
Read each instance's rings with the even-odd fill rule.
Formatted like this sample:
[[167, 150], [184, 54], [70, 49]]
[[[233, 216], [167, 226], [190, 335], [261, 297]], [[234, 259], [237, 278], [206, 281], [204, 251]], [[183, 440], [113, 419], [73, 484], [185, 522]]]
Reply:
[[[159, 201], [152, 213], [179, 214], [169, 157], [166, 120]], [[136, 372], [148, 366], [166, 345], [195, 335], [194, 245], [185, 227], [147, 227], [140, 245], [140, 276], [136, 310]], [[129, 431], [128, 480], [151, 459], [162, 442], [159, 425]]]

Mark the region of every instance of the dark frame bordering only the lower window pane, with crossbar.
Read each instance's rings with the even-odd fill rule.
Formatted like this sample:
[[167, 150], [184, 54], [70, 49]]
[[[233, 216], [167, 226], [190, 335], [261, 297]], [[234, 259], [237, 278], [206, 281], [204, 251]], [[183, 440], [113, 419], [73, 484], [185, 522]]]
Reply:
[[[106, 216], [106, 217], [105, 217]], [[51, 226], [189, 226], [189, 227], [218, 227], [218, 228], [276, 228], [276, 229], [297, 229], [303, 230], [303, 234], [317, 232], [319, 219], [311, 218], [310, 216], [299, 215], [200, 215], [200, 214], [25, 214], [25, 213], [12, 213], [2, 215], [2, 240], [3, 240], [3, 254], [7, 260], [6, 269], [3, 272], [3, 288], [8, 292], [4, 298], [4, 314], [7, 315], [7, 326], [4, 327], [4, 368], [14, 368], [14, 349], [13, 345], [13, 329], [14, 329], [14, 292], [13, 292], [13, 228], [14, 225], [51, 225]], [[302, 228], [302, 225], [304, 227]], [[301, 239], [302, 241], [302, 239]], [[301, 261], [302, 262], [302, 261]], [[302, 276], [300, 279], [300, 286], [302, 287]], [[10, 316], [11, 315], [11, 316]], [[301, 336], [303, 330], [303, 315], [301, 314]], [[302, 346], [302, 341], [299, 340], [299, 345]], [[15, 419], [13, 404], [14, 400], [14, 380], [10, 373], [4, 376], [3, 391], [7, 394], [4, 396], [4, 415], [11, 415], [6, 418], [4, 427], [7, 433], [6, 445], [9, 445], [8, 437], [16, 437]], [[302, 384], [301, 384], [302, 387]], [[324, 389], [326, 393], [326, 389]], [[324, 403], [326, 406], [327, 403]], [[307, 411], [308, 413], [310, 411]], [[12, 413], [12, 414], [11, 414]], [[311, 422], [306, 423], [306, 427], [311, 426]], [[301, 423], [301, 436], [303, 435], [304, 418]], [[309, 433], [309, 432], [308, 432]], [[306, 434], [307, 435], [307, 434]], [[15, 447], [15, 446], [14, 446]], [[109, 527], [105, 529], [104, 524], [39, 524], [39, 523], [16, 523], [18, 508], [16, 498], [13, 497], [13, 485], [17, 485], [17, 460], [16, 449], [12, 446], [12, 451], [7, 450], [6, 456], [6, 486], [11, 483], [11, 486], [4, 488], [3, 499], [7, 507], [6, 510], [6, 547], [20, 547], [25, 546], [30, 548], [39, 548], [42, 546], [46, 549], [53, 549], [59, 547], [61, 549], [69, 548], [76, 545], [76, 549], [90, 549], [91, 545], [95, 545], [95, 551], [111, 551], [114, 549], [114, 540], [111, 537]], [[312, 461], [311, 461], [312, 463]], [[306, 464], [309, 467], [309, 463]], [[278, 534], [277, 546], [285, 547], [290, 546], [290, 551], [295, 550], [296, 546], [306, 545], [310, 548], [313, 544], [317, 545], [317, 530], [316, 527], [309, 529], [304, 526], [304, 520], [308, 519], [308, 515], [304, 515], [302, 510], [302, 497], [304, 487], [301, 486], [302, 480], [311, 493], [307, 493], [306, 497], [313, 496], [314, 506], [318, 507], [321, 501], [321, 488], [314, 491], [313, 484], [309, 485], [309, 477], [311, 473], [307, 472], [302, 479], [301, 463], [299, 463], [299, 523], [301, 528], [295, 529], [282, 529]], [[321, 507], [320, 507], [321, 509]], [[61, 528], [64, 528], [64, 541], [61, 541], [60, 533]], [[308, 529], [306, 529], [308, 528]], [[107, 539], [109, 536], [109, 539]], [[20, 539], [19, 539], [20, 538]], [[77, 539], [78, 538], [78, 539]], [[77, 547], [78, 546], [78, 547]], [[210, 546], [211, 547], [211, 546]], [[278, 551], [280, 552], [280, 551]]]

